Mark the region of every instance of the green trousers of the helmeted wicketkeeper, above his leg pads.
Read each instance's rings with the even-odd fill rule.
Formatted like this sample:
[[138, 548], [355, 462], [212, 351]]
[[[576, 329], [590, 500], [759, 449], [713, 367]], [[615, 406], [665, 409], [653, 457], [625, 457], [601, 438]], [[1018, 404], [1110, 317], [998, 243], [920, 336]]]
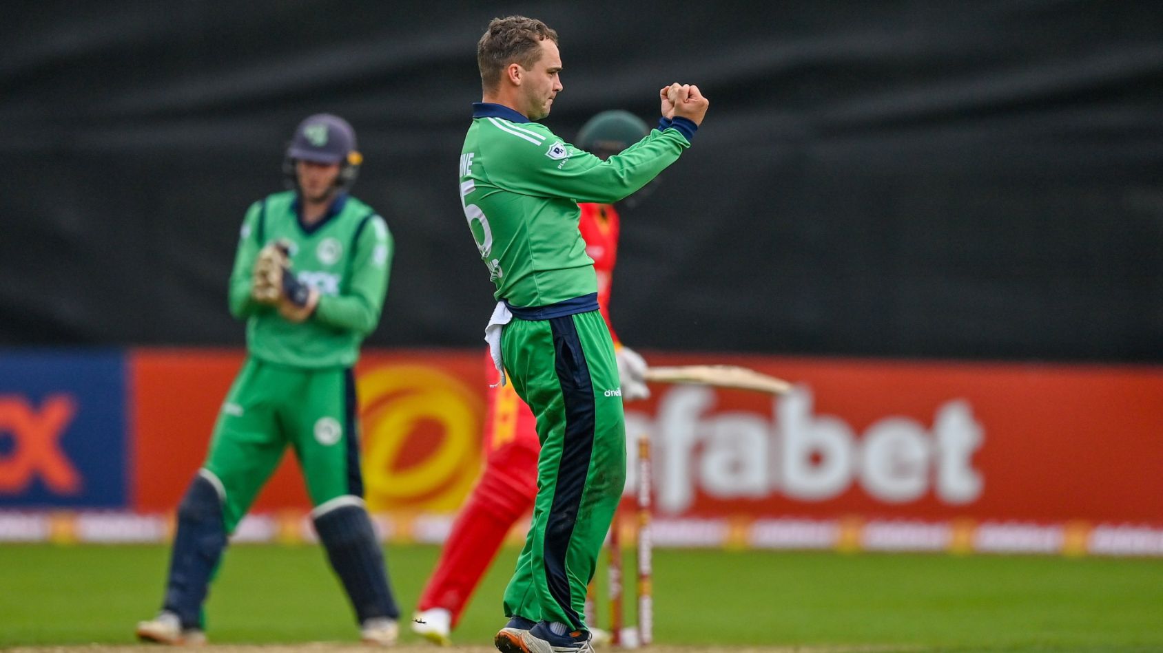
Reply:
[[319, 507], [363, 497], [355, 378], [248, 358], [219, 414], [204, 467], [221, 482], [227, 532], [250, 509], [290, 446]]

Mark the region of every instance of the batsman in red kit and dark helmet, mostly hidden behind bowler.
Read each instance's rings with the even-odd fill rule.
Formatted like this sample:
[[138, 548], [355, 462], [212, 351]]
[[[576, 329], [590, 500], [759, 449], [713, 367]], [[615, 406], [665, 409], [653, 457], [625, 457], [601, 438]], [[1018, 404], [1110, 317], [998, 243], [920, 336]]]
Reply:
[[[605, 159], [637, 143], [649, 131], [645, 122], [622, 110], [602, 112], [583, 125], [577, 146]], [[619, 216], [613, 204], [580, 203], [578, 229], [598, 275], [598, 304], [614, 338], [622, 400], [650, 396], [641, 356], [618, 339], [609, 323], [609, 288], [618, 258]], [[452, 525], [420, 604], [413, 632], [440, 645], [451, 644], [450, 634], [477, 583], [497, 557], [513, 524], [533, 509], [537, 494], [537, 440], [533, 411], [516, 395], [513, 385], [499, 385], [492, 357], [483, 363], [488, 379], [488, 411], [485, 416], [485, 469], [465, 500]]]

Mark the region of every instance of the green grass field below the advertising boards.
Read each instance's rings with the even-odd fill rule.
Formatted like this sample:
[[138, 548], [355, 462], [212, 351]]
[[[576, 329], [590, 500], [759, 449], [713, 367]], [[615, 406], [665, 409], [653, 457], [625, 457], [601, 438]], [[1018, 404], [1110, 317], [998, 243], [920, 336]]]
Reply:
[[[408, 615], [436, 554], [388, 550]], [[458, 644], [491, 641], [515, 555], [504, 551], [485, 579]], [[157, 609], [166, 557], [160, 546], [0, 546], [0, 647], [130, 644]], [[657, 551], [655, 590], [661, 651], [1163, 651], [1163, 560]], [[215, 643], [355, 637], [313, 546], [233, 547], [207, 618]]]

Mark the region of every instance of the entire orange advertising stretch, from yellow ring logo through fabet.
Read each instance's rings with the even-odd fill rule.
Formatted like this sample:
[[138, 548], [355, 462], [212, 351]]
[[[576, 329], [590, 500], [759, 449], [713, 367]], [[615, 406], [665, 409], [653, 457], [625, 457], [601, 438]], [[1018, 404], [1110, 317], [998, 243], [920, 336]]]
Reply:
[[[480, 468], [481, 351], [373, 351], [357, 367], [374, 511], [451, 512]], [[136, 350], [131, 507], [172, 510], [206, 452], [236, 351]], [[627, 437], [654, 442], [662, 518], [1163, 524], [1163, 368], [648, 352], [792, 381], [773, 397], [652, 386]], [[628, 447], [633, 491], [634, 455]], [[308, 507], [284, 461], [256, 511]], [[629, 496], [629, 494], [627, 495]]]

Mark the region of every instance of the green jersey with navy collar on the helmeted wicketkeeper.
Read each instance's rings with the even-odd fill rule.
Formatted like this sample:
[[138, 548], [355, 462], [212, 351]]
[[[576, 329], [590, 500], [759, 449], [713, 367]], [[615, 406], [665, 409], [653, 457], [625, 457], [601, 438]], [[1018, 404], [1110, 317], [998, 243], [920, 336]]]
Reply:
[[[300, 324], [250, 296], [258, 251], [279, 239], [291, 243], [291, 271], [320, 293], [314, 315]], [[230, 313], [247, 321], [250, 356], [312, 369], [355, 365], [384, 308], [393, 249], [384, 218], [349, 195], [311, 227], [299, 221], [293, 191], [251, 204], [230, 274]]]

